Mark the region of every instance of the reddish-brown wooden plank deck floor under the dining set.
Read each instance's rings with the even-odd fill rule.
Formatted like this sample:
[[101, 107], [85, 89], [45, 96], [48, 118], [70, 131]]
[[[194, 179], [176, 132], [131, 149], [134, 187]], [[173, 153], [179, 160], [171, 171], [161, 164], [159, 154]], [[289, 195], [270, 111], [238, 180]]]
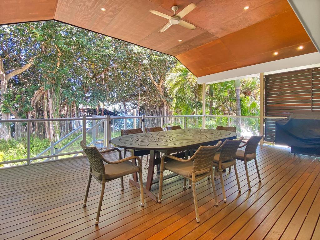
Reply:
[[[200, 223], [192, 189], [183, 190], [178, 176], [164, 182], [161, 204], [145, 195], [144, 208], [129, 176], [123, 192], [120, 181], [107, 183], [97, 227], [100, 185], [94, 179], [82, 207], [88, 180], [85, 158], [0, 170], [0, 239], [320, 239], [320, 158], [293, 156], [289, 148], [274, 146], [258, 147], [257, 153], [262, 182], [254, 162], [249, 163], [251, 191], [240, 161], [241, 194], [234, 171], [223, 174], [227, 203], [219, 176], [218, 207], [210, 181], [197, 183]], [[157, 188], [155, 184], [155, 193]]]

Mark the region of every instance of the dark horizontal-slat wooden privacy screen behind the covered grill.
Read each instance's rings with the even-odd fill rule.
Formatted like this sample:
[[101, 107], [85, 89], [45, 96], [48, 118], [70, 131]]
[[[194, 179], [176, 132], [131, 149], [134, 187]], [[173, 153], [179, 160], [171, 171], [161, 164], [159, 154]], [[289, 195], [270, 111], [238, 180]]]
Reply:
[[[320, 68], [265, 76], [265, 116], [289, 116], [303, 111], [320, 113]], [[276, 120], [265, 120], [266, 141], [274, 141]]]

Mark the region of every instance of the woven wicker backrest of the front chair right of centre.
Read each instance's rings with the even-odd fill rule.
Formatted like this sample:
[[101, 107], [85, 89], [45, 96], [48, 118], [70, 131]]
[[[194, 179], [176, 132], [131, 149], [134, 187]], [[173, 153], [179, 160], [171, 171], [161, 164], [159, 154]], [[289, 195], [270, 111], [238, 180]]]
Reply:
[[200, 146], [194, 154], [195, 160], [193, 162], [192, 172], [198, 172], [205, 169], [208, 169], [209, 171], [212, 169], [212, 159], [221, 144], [222, 141], [219, 141], [214, 146]]

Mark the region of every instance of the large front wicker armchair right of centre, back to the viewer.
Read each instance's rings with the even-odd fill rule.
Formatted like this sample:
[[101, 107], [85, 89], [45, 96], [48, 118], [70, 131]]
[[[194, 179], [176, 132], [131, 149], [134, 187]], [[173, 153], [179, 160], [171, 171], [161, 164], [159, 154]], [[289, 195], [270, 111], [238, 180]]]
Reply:
[[[198, 202], [196, 196], [196, 182], [211, 176], [212, 189], [214, 194], [214, 202], [218, 206], [218, 199], [216, 189], [214, 186], [213, 172], [212, 172], [212, 159], [216, 151], [221, 146], [222, 142], [219, 141], [214, 146], [200, 146], [195, 154], [189, 159], [181, 159], [172, 155], [164, 155], [161, 158], [160, 164], [160, 180], [159, 180], [159, 196], [158, 202], [162, 201], [162, 185], [163, 185], [163, 172], [165, 169], [183, 176], [183, 188], [186, 188], [187, 179], [192, 181], [193, 199], [195, 203], [196, 221], [200, 222], [198, 212]], [[169, 161], [164, 163], [166, 159]]]

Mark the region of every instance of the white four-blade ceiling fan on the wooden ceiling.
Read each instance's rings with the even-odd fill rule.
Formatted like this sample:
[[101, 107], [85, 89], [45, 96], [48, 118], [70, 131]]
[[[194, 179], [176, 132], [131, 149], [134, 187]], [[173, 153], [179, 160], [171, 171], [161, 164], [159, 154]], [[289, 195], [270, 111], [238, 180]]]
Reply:
[[150, 10], [149, 12], [156, 14], [160, 17], [166, 18], [169, 20], [169, 22], [164, 25], [160, 30], [159, 33], [164, 32], [165, 30], [167, 30], [171, 25], [176, 25], [179, 24], [185, 28], [189, 28], [191, 30], [194, 30], [196, 28], [196, 26], [181, 20], [181, 18], [183, 18], [184, 16], [186, 16], [189, 12], [191, 12], [192, 10], [194, 10], [196, 8], [196, 4], [194, 3], [190, 3], [188, 6], [186, 6], [184, 9], [182, 9], [178, 14], [176, 14], [176, 11], [178, 10], [178, 6], [172, 6], [172, 11], [173, 11], [173, 15], [169, 16], [167, 14], [164, 14], [162, 12], [158, 12], [155, 10]]

